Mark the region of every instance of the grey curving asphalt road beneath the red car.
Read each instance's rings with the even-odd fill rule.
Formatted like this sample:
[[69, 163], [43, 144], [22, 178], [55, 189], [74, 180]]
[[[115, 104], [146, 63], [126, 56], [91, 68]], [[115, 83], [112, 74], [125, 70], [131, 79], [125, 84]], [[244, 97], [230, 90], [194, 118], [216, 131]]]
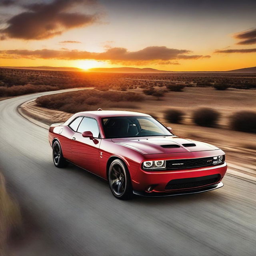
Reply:
[[0, 101], [0, 168], [66, 255], [256, 254], [253, 183], [225, 176], [211, 192], [120, 201], [104, 180], [75, 166], [55, 168], [48, 131], [16, 110], [52, 93]]

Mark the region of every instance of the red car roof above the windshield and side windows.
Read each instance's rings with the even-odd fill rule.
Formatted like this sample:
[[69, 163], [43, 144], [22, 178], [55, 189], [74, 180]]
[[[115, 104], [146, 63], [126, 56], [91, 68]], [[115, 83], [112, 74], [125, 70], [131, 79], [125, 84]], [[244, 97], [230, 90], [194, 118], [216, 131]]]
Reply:
[[133, 112], [133, 111], [119, 111], [119, 110], [97, 110], [97, 111], [84, 111], [76, 113], [80, 116], [90, 116], [90, 117], [112, 117], [112, 116], [150, 116], [148, 114]]

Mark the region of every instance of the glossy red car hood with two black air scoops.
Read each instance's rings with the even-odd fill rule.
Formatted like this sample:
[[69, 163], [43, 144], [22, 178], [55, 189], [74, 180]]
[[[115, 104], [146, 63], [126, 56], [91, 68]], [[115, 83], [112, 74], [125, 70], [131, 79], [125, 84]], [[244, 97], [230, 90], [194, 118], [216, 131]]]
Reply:
[[177, 136], [154, 136], [140, 138], [116, 138], [114, 143], [132, 148], [142, 154], [164, 154], [178, 152], [196, 152], [217, 150], [218, 148], [205, 142], [189, 140]]

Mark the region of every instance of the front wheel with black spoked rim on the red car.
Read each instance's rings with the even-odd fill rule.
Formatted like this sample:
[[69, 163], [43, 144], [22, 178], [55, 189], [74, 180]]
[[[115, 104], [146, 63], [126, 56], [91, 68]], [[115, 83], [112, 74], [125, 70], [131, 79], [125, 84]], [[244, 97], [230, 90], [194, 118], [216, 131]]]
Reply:
[[130, 173], [120, 159], [115, 159], [108, 170], [108, 182], [112, 194], [120, 200], [133, 197]]

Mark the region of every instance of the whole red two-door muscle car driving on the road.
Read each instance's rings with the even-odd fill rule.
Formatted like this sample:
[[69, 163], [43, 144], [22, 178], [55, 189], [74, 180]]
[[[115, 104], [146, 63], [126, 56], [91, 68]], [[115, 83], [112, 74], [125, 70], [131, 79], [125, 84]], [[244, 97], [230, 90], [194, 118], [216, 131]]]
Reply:
[[219, 148], [179, 138], [138, 112], [80, 112], [52, 124], [49, 141], [56, 167], [71, 162], [108, 180], [119, 199], [214, 190], [227, 170]]

